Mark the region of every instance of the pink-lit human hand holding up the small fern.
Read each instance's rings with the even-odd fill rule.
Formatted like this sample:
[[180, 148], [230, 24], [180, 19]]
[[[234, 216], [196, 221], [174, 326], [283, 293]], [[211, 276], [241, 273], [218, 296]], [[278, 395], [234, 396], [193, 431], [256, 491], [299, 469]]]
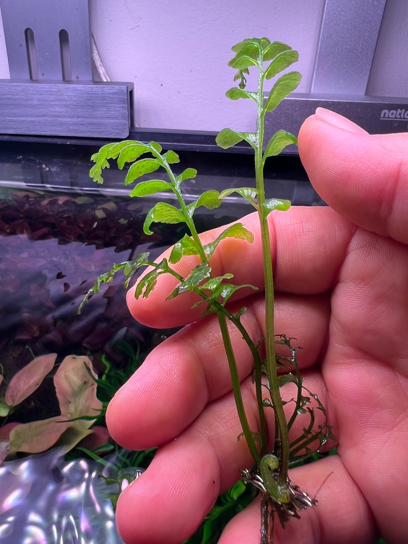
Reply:
[[[275, 331], [298, 339], [305, 385], [326, 407], [339, 455], [290, 471], [319, 506], [282, 529], [275, 544], [407, 542], [408, 497], [408, 134], [368, 135], [341, 116], [318, 110], [299, 134], [299, 153], [314, 188], [330, 207], [270, 214], [274, 242]], [[244, 219], [253, 244], [226, 239], [214, 274], [262, 289], [257, 217]], [[215, 238], [216, 232], [205, 234]], [[207, 240], [208, 241], [208, 240]], [[184, 271], [191, 259], [180, 263]], [[181, 270], [183, 274], [183, 270]], [[218, 494], [252, 458], [231, 394], [224, 347], [213, 317], [197, 320], [184, 294], [161, 276], [149, 299], [128, 305], [154, 327], [188, 324], [160, 344], [115, 395], [109, 430], [130, 449], [160, 448], [147, 471], [120, 496], [116, 518], [128, 543], [187, 539]], [[238, 292], [240, 293], [240, 292]], [[237, 301], [255, 338], [263, 336], [262, 291]], [[196, 321], [197, 320], [197, 321]], [[242, 339], [233, 333], [238, 347]], [[237, 363], [256, 428], [252, 361]], [[272, 434], [273, 435], [273, 434]], [[221, 544], [258, 544], [259, 503], [236, 516]]]

